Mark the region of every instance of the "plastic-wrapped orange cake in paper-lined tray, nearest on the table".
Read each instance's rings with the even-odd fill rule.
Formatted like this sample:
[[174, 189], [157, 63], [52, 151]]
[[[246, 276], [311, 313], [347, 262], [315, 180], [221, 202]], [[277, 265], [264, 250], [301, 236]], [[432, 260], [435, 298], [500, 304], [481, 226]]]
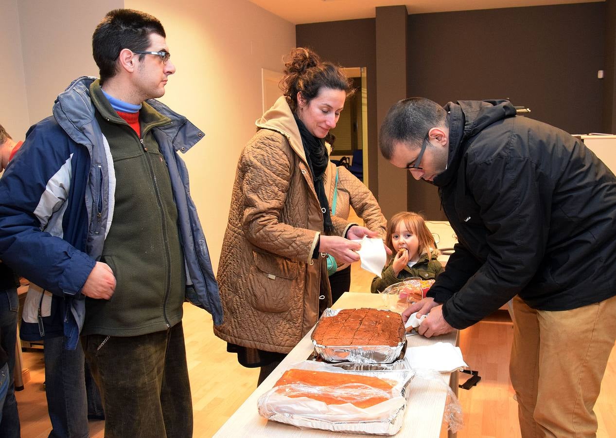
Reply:
[[413, 371], [349, 372], [312, 361], [259, 397], [259, 415], [299, 428], [394, 435], [402, 427]]

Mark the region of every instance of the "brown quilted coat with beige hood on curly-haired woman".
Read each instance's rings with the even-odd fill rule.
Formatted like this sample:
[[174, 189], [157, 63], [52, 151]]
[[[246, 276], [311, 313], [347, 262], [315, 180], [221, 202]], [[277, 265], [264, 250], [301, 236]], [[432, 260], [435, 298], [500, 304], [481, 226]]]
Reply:
[[[240, 155], [217, 281], [232, 344], [288, 353], [331, 305], [325, 258], [312, 258], [323, 213], [284, 97], [256, 122]], [[346, 220], [332, 218], [344, 236]], [[322, 304], [322, 307], [323, 307]]]

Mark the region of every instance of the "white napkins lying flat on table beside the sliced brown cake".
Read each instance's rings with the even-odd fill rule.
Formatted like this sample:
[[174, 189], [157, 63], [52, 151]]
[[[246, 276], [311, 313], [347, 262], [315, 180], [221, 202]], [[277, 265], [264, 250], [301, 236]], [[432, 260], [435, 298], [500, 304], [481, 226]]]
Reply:
[[448, 342], [437, 342], [423, 347], [407, 349], [404, 361], [413, 369], [436, 370], [440, 373], [451, 373], [458, 368], [466, 368], [460, 347], [454, 347]]

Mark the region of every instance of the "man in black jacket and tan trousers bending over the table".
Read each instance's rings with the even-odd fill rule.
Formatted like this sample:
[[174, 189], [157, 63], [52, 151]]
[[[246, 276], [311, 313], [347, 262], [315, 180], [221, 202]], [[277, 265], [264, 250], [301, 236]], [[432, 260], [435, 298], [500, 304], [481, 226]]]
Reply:
[[439, 187], [458, 244], [428, 298], [424, 336], [466, 328], [513, 299], [511, 381], [522, 436], [594, 436], [616, 339], [616, 177], [554, 126], [508, 101], [388, 112], [379, 147]]

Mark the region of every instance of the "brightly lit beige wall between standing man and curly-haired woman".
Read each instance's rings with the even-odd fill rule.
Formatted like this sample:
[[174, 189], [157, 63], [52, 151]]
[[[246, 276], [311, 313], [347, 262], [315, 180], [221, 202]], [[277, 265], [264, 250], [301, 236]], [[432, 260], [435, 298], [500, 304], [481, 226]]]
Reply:
[[176, 73], [161, 99], [205, 132], [184, 159], [214, 270], [235, 167], [261, 116], [261, 68], [282, 71], [295, 27], [246, 0], [127, 0], [164, 25]]

